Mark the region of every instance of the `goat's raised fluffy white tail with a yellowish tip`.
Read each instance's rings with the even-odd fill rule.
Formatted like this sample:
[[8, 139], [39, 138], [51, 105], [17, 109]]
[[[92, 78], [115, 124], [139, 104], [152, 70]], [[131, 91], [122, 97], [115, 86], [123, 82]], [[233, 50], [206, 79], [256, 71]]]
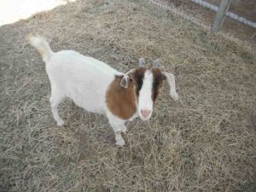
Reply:
[[27, 39], [38, 50], [39, 54], [43, 57], [43, 61], [49, 61], [54, 52], [50, 49], [48, 42], [41, 36], [32, 34], [28, 35]]

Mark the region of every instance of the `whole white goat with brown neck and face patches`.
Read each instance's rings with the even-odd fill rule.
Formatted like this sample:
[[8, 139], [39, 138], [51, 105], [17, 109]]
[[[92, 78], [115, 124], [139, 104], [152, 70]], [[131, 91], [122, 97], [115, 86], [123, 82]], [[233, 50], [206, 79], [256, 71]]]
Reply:
[[58, 105], [69, 97], [89, 112], [105, 114], [113, 128], [116, 145], [124, 146], [121, 132], [126, 131], [125, 122], [138, 116], [143, 120], [151, 117], [163, 80], [167, 79], [172, 98], [178, 99], [174, 75], [161, 72], [159, 60], [148, 69], [141, 58], [139, 67], [120, 73], [74, 50], [53, 52], [47, 41], [38, 35], [30, 35], [28, 40], [46, 64], [51, 88], [49, 102], [57, 125], [64, 125]]

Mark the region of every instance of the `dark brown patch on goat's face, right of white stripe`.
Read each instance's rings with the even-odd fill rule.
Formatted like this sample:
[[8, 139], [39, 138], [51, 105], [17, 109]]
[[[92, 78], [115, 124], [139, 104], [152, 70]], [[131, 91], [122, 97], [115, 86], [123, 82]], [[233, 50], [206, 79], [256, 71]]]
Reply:
[[160, 72], [159, 68], [153, 68], [151, 72], [154, 77], [152, 85], [152, 99], [153, 102], [155, 102], [156, 98], [159, 96], [160, 88], [163, 86], [163, 80], [166, 79], [166, 76]]

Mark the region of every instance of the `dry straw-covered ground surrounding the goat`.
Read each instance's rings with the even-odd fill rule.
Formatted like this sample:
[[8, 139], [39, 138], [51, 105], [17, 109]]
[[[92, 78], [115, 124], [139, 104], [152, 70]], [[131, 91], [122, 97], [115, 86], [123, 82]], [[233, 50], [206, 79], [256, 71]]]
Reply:
[[[160, 94], [125, 148], [108, 120], [66, 101], [58, 127], [44, 63], [28, 33], [126, 72], [141, 56], [177, 76], [178, 102]], [[0, 27], [0, 191], [256, 190], [256, 53], [145, 1], [68, 3]]]

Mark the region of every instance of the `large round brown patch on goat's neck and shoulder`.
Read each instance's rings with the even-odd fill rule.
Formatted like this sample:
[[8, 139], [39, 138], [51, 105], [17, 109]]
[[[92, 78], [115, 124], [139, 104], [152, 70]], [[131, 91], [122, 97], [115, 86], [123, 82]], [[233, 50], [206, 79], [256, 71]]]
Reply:
[[130, 80], [128, 88], [120, 86], [123, 76], [116, 76], [109, 85], [106, 102], [111, 113], [121, 119], [130, 119], [137, 112], [137, 86]]

